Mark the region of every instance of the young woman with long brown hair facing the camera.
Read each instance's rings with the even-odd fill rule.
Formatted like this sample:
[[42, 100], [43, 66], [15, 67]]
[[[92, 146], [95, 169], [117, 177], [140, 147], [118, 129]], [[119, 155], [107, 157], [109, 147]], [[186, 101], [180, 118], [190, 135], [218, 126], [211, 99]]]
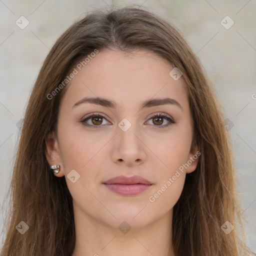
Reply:
[[180, 33], [136, 6], [94, 11], [57, 39], [10, 189], [1, 256], [250, 252], [210, 82]]

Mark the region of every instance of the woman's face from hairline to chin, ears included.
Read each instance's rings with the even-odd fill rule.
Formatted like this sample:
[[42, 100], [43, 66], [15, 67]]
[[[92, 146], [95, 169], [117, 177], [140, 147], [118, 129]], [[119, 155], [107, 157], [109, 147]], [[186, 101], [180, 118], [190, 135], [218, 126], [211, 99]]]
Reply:
[[[182, 76], [169, 75], [172, 69], [144, 50], [99, 51], [77, 69], [60, 103], [57, 134], [47, 138], [46, 157], [60, 165], [54, 175], [65, 176], [80, 216], [113, 228], [124, 220], [142, 227], [172, 212], [198, 160], [188, 96]], [[84, 97], [110, 102], [82, 102]], [[163, 98], [170, 100], [144, 104]], [[119, 175], [150, 184], [104, 184]]]

